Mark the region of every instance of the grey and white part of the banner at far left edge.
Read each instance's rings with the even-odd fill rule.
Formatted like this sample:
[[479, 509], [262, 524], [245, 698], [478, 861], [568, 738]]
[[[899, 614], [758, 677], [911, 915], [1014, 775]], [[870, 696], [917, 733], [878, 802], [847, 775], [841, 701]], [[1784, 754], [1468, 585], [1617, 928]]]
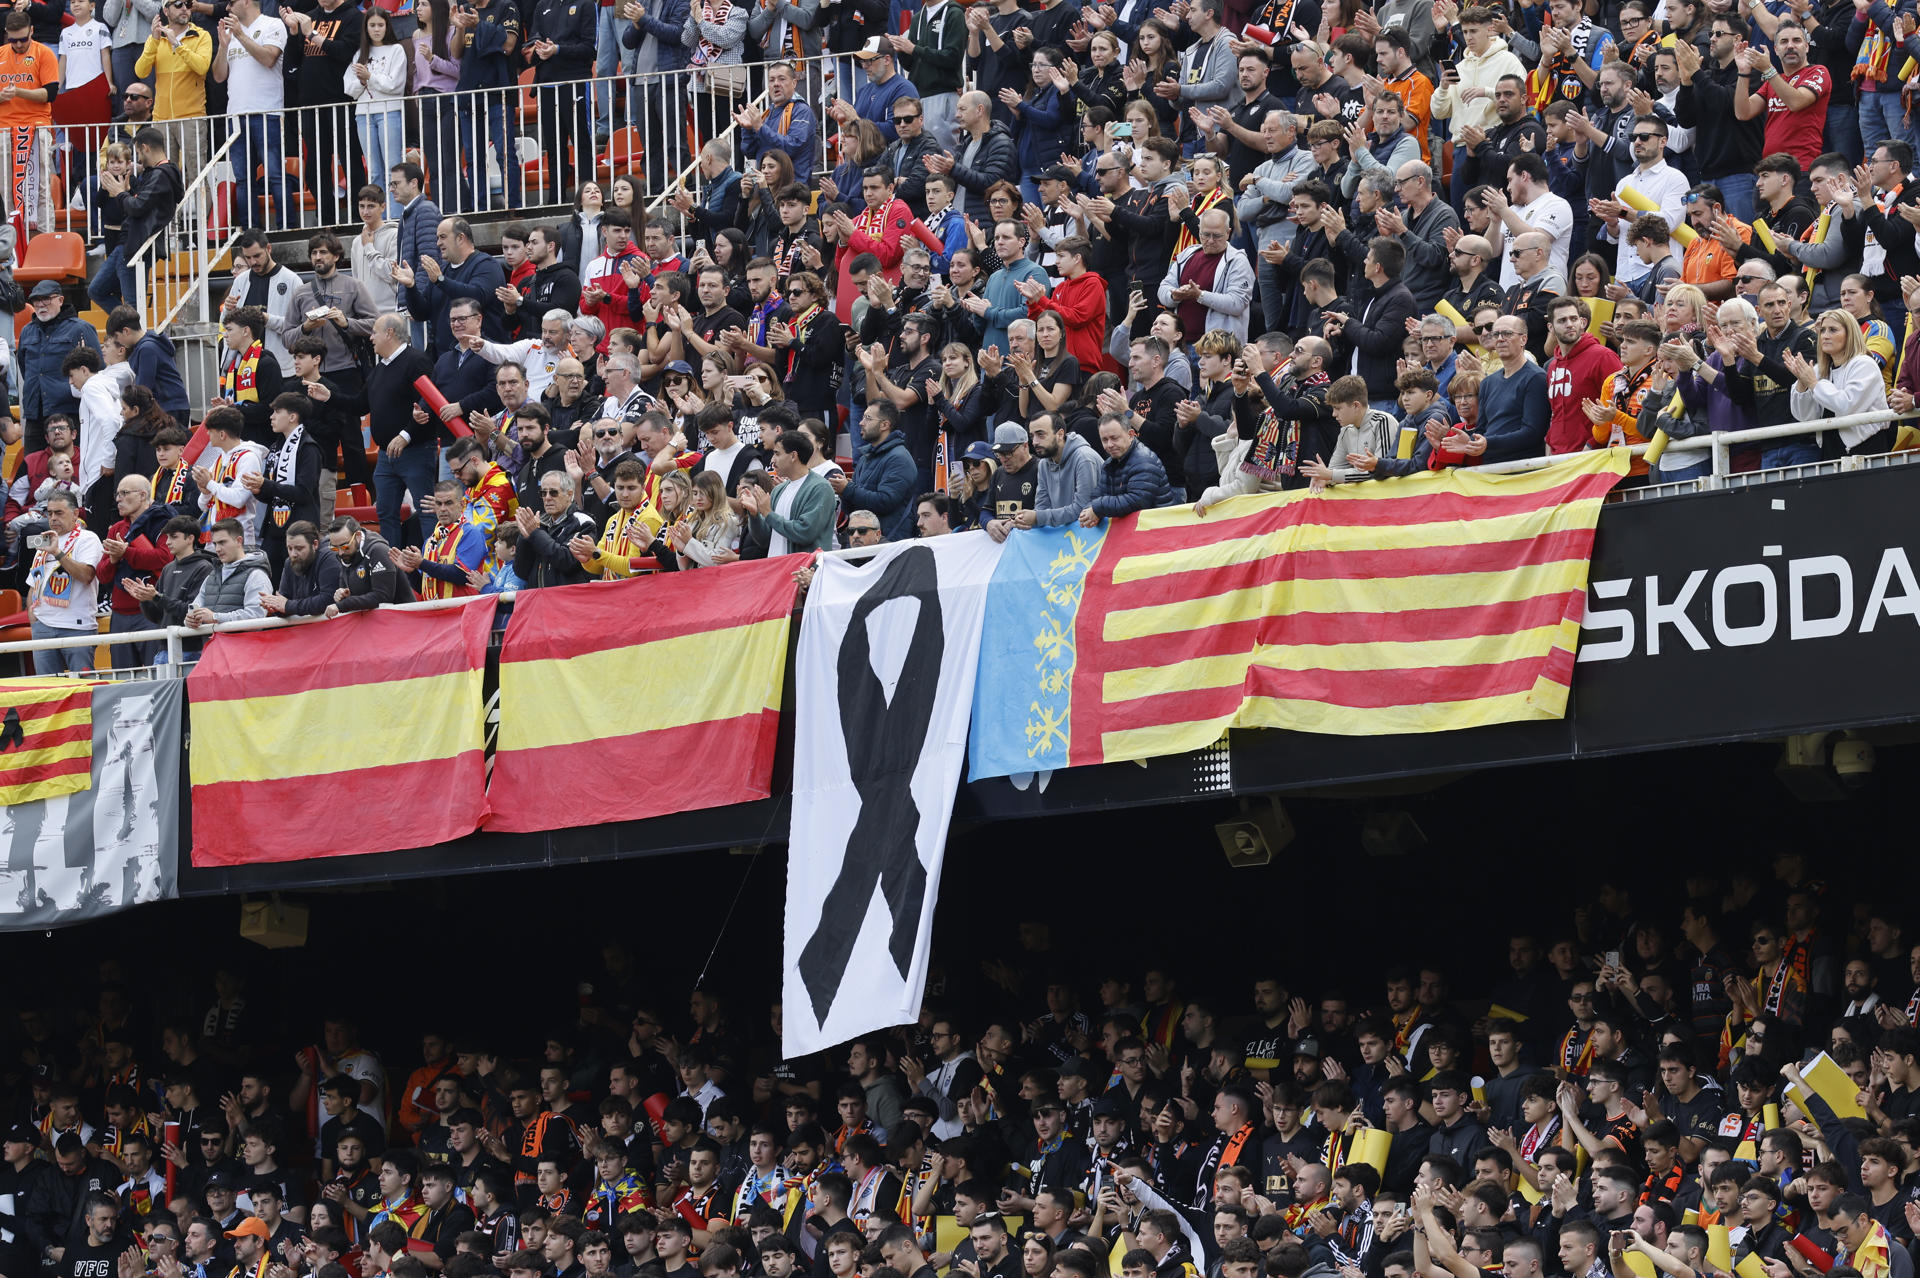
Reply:
[[0, 812], [0, 931], [179, 896], [184, 679], [94, 689], [94, 785]]

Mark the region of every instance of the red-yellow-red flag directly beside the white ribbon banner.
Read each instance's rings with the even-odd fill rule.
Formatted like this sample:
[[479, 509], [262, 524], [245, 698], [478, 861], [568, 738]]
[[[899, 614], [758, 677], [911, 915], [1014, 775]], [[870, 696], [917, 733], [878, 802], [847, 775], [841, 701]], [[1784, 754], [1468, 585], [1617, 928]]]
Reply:
[[488, 829], [766, 798], [804, 562], [520, 591], [499, 652]]

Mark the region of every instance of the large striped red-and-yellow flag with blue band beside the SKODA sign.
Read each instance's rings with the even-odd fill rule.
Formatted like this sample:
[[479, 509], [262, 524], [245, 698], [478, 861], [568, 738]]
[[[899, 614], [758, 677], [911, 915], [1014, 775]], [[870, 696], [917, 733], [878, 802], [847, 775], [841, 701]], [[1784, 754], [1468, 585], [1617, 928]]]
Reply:
[[1609, 449], [1010, 537], [972, 777], [1181, 754], [1229, 727], [1561, 718], [1594, 524], [1624, 472]]

